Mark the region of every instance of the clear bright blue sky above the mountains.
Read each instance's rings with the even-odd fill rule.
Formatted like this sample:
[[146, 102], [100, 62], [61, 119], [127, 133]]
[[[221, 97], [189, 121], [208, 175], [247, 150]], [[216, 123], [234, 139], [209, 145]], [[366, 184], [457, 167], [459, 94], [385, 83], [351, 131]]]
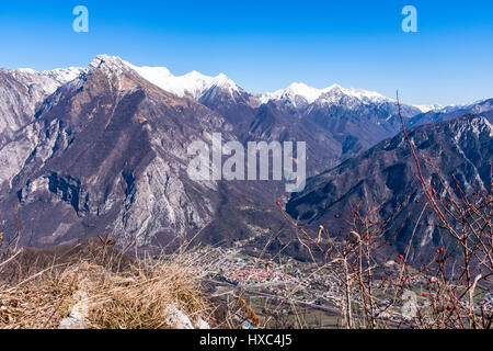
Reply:
[[[89, 9], [89, 33], [72, 9]], [[417, 33], [404, 33], [404, 5]], [[174, 75], [223, 72], [245, 90], [294, 81], [406, 103], [493, 97], [493, 1], [1, 1], [0, 67], [87, 66], [98, 54]]]

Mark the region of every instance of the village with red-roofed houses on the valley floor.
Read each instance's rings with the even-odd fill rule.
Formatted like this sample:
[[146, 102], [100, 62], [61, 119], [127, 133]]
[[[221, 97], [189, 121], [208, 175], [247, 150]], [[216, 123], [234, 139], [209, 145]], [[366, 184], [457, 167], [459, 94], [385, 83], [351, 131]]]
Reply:
[[[190, 253], [188, 258], [190, 262], [193, 262], [191, 269], [216, 286], [214, 296], [238, 294], [248, 296], [250, 299], [256, 297], [312, 307], [332, 315], [340, 313], [344, 287], [334, 272], [289, 257], [276, 257], [276, 259], [277, 261], [246, 256], [242, 253], [240, 245], [233, 248], [202, 248]], [[397, 264], [393, 261], [388, 263], [387, 274], [392, 274], [389, 272], [397, 272], [399, 269], [392, 265]], [[417, 279], [413, 279], [411, 284], [416, 306], [429, 306], [429, 298], [423, 293], [425, 284]], [[389, 288], [387, 281], [374, 279], [371, 286], [382, 292], [377, 295], [382, 319], [393, 322], [409, 319], [402, 308], [405, 302], [401, 298], [397, 303], [392, 302], [394, 290]], [[354, 303], [358, 304], [357, 298]], [[392, 307], [386, 308], [389, 305]], [[493, 293], [485, 294], [481, 301], [478, 301], [478, 308], [479, 306], [491, 309]]]

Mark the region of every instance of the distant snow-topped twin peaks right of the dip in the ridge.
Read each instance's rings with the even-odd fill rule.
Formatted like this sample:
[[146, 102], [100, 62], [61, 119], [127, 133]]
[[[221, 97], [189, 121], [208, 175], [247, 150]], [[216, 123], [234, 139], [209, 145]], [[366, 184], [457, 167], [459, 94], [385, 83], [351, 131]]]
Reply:
[[[272, 128], [282, 132], [289, 131], [289, 126], [294, 126], [293, 131], [300, 131], [313, 146], [311, 166], [314, 173], [323, 171], [320, 168], [323, 165], [326, 169], [367, 150], [401, 128], [397, 102], [371, 91], [337, 84], [316, 89], [294, 83], [261, 97], [261, 101], [267, 105], [259, 109], [256, 125], [266, 125], [268, 121]], [[268, 109], [268, 104], [273, 103], [276, 109]], [[406, 120], [420, 112], [414, 106], [402, 106], [402, 115]], [[272, 123], [280, 116], [280, 123]], [[266, 126], [270, 132], [270, 125]], [[293, 131], [289, 135], [296, 135]]]

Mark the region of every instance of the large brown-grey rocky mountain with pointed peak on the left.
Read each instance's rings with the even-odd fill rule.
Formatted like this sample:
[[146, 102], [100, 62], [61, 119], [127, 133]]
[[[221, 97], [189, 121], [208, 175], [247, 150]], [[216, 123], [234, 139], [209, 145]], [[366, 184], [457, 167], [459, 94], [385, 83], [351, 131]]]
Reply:
[[204, 105], [99, 57], [2, 149], [10, 162], [1, 178], [7, 233], [14, 235], [14, 212], [23, 245], [107, 230], [123, 244], [147, 246], [198, 231], [214, 215], [217, 183], [190, 181], [186, 148], [213, 132], [227, 138], [229, 129]]

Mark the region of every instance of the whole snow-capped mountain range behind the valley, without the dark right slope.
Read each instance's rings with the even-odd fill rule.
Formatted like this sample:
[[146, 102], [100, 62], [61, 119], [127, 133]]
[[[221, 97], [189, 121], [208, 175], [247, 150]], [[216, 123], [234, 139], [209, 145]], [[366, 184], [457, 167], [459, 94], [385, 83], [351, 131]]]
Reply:
[[[493, 111], [491, 101], [468, 109], [452, 116]], [[411, 105], [402, 112], [410, 125], [450, 117]], [[19, 218], [28, 234], [20, 244], [41, 247], [102, 233], [137, 246], [197, 233], [198, 241], [231, 242], [259, 228], [289, 236], [273, 210], [288, 200], [284, 183], [193, 182], [184, 176], [186, 147], [210, 141], [213, 133], [242, 144], [305, 141], [311, 177], [400, 131], [394, 100], [336, 84], [294, 83], [255, 94], [225, 75], [173, 76], [163, 67], [137, 67], [107, 55], [85, 68], [0, 69], [0, 225], [10, 240]], [[439, 135], [439, 128], [433, 131]], [[370, 167], [355, 165], [359, 176], [370, 173]], [[303, 206], [310, 213], [318, 202], [308, 200]]]

